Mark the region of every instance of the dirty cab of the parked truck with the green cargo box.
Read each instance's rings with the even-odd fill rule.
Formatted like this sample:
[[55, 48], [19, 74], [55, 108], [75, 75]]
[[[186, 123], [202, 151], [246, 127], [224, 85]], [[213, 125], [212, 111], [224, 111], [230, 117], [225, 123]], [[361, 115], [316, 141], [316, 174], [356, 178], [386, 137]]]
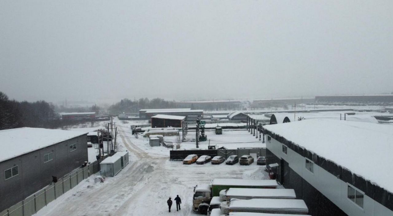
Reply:
[[210, 185], [196, 185], [193, 195], [193, 211], [197, 211], [200, 214], [208, 214], [211, 198]]

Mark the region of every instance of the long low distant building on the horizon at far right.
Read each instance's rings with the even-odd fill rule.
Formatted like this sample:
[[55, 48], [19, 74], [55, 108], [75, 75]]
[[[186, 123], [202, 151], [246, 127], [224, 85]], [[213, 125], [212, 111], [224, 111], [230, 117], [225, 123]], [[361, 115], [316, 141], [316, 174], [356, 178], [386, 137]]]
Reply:
[[316, 103], [393, 104], [392, 95], [338, 95], [316, 96]]

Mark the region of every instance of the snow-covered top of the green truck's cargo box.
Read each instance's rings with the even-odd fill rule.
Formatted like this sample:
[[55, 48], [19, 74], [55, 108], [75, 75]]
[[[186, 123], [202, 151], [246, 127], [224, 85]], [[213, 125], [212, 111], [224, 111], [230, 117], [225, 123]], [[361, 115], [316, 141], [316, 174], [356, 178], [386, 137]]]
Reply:
[[257, 187], [277, 187], [275, 180], [254, 180], [254, 179], [213, 179], [211, 185], [238, 185]]

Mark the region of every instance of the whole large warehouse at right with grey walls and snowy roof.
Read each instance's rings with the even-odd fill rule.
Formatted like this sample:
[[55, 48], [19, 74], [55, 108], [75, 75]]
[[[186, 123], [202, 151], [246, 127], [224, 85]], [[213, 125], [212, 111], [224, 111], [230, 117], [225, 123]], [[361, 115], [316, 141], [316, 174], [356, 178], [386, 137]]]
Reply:
[[310, 119], [264, 129], [267, 164], [311, 215], [393, 215], [391, 125]]

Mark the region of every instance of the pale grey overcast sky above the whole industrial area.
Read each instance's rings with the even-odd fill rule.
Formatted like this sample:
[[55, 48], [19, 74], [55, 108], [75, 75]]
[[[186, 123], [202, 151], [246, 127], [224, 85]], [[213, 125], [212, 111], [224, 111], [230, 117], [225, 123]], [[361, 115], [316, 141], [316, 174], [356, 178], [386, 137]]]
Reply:
[[393, 1], [0, 0], [17, 100], [393, 91]]

